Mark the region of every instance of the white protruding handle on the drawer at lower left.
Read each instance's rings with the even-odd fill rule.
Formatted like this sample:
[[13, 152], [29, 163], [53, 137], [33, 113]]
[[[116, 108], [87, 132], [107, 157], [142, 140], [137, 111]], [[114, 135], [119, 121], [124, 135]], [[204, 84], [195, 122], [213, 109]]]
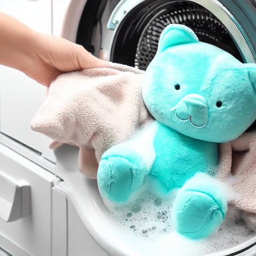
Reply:
[[29, 184], [0, 171], [0, 218], [7, 222], [29, 215], [30, 202]]

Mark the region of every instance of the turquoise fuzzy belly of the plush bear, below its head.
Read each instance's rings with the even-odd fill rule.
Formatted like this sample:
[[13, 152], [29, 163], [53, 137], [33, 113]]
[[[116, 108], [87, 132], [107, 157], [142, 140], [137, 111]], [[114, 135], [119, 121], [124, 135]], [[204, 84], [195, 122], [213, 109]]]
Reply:
[[214, 173], [218, 143], [193, 139], [163, 124], [154, 139], [156, 159], [149, 173], [165, 193], [180, 188], [197, 172]]

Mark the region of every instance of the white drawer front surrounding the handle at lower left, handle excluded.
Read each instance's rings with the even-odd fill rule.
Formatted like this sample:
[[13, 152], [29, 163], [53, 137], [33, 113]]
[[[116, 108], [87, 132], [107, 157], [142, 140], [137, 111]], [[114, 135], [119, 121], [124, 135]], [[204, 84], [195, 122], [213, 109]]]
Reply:
[[59, 179], [1, 143], [0, 170], [30, 186], [31, 213], [10, 222], [0, 218], [0, 247], [13, 256], [50, 256], [52, 187]]

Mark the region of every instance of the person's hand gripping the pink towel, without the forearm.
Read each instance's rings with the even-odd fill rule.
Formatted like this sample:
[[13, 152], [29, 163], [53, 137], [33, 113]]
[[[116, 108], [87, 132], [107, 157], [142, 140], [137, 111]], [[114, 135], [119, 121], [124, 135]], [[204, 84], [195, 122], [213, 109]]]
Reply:
[[105, 67], [108, 61], [100, 60], [87, 52], [82, 45], [65, 38], [40, 34], [34, 67], [23, 72], [38, 83], [49, 86], [62, 73], [85, 68]]

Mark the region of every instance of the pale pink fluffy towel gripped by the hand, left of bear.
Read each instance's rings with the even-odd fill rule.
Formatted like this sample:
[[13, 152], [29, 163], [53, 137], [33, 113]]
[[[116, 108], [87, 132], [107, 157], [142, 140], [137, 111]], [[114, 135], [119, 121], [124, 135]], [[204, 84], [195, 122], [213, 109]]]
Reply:
[[102, 154], [151, 118], [141, 95], [143, 76], [144, 71], [111, 62], [62, 74], [47, 90], [31, 129], [52, 138], [52, 149], [63, 143], [80, 147], [79, 171], [96, 179]]

